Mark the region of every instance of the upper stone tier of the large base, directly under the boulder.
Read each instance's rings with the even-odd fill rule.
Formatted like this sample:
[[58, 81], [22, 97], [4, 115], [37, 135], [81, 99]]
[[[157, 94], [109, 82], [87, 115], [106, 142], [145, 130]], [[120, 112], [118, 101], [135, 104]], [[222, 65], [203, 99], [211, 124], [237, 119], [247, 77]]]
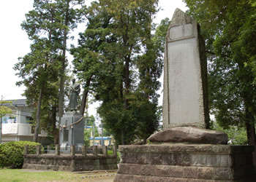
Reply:
[[[124, 148], [125, 149], [124, 149]], [[142, 165], [180, 165], [236, 167], [252, 165], [252, 151], [238, 153], [233, 146], [121, 146], [121, 163]], [[228, 154], [226, 148], [238, 149]], [[250, 146], [246, 148], [253, 149]], [[246, 150], [246, 148], [244, 148]], [[219, 151], [216, 149], [223, 149]], [[171, 152], [170, 152], [171, 151]], [[218, 152], [219, 151], [219, 152]], [[226, 152], [224, 152], [226, 151]]]

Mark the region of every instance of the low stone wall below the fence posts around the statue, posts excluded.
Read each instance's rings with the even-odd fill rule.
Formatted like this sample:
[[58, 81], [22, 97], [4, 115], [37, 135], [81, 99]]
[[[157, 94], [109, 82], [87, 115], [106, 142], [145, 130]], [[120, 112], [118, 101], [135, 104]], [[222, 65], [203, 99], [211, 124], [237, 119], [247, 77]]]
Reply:
[[28, 154], [24, 156], [23, 169], [33, 170], [64, 170], [64, 171], [86, 171], [86, 170], [116, 170], [115, 155], [87, 154], [86, 157], [76, 154], [75, 157], [61, 154]]

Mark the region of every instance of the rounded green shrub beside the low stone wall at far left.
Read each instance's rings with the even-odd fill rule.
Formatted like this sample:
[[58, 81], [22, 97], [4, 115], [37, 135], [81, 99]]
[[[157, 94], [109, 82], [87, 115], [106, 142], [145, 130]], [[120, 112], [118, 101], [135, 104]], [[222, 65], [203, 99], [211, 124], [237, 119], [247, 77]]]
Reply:
[[12, 141], [0, 144], [0, 167], [21, 168], [26, 145], [29, 146], [29, 154], [35, 154], [35, 146], [41, 144], [31, 141]]

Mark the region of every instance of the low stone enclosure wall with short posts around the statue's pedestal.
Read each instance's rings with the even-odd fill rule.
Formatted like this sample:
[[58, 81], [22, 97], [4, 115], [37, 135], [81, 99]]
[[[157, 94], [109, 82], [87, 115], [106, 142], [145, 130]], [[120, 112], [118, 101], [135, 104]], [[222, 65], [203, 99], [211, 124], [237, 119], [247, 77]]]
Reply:
[[37, 146], [36, 154], [28, 154], [28, 146], [25, 146], [23, 169], [33, 170], [116, 170], [116, 149], [108, 154], [108, 147], [102, 148], [103, 154], [98, 154], [97, 146], [93, 147], [93, 154], [87, 154], [86, 146], [82, 148], [82, 154], [75, 154], [75, 146], [70, 147], [70, 154], [61, 154], [59, 145], [55, 154], [41, 154], [41, 147]]

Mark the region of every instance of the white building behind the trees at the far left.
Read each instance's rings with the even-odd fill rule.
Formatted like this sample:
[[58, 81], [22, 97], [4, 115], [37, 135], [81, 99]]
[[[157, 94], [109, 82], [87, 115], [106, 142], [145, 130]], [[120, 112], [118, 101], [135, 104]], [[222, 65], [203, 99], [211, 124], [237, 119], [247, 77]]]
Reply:
[[[34, 108], [26, 104], [26, 99], [8, 100], [12, 103], [4, 103], [12, 109], [12, 114], [2, 117], [2, 143], [9, 141], [33, 141], [34, 127], [31, 126], [31, 114]], [[47, 132], [39, 132], [39, 143], [48, 143]]]

